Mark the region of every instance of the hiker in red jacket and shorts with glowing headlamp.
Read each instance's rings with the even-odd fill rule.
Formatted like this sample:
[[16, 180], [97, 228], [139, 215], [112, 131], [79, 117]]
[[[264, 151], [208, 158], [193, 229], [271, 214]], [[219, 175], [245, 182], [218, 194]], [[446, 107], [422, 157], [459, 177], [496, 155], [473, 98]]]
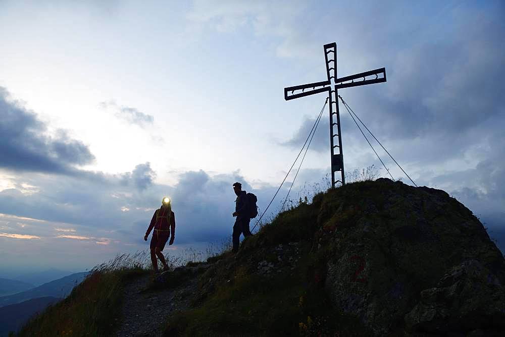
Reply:
[[169, 270], [167, 261], [165, 260], [165, 256], [162, 251], [169, 238], [169, 245], [172, 245], [175, 239], [175, 213], [172, 211], [170, 198], [163, 198], [161, 207], [155, 211], [149, 224], [149, 228], [145, 232], [144, 241], [147, 241], [147, 237], [153, 228], [154, 232], [151, 237], [149, 248], [151, 251], [151, 262], [153, 262], [153, 268], [155, 272], [158, 273], [158, 260], [156, 257], [158, 257], [163, 264], [163, 271]]

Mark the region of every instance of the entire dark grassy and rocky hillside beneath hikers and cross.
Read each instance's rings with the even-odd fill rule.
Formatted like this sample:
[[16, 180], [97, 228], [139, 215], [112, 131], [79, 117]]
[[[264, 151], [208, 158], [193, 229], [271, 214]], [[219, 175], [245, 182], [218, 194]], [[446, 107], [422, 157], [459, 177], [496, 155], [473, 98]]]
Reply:
[[[167, 336], [505, 334], [505, 260], [482, 223], [443, 191], [383, 178], [318, 194], [237, 254], [177, 268], [137, 289], [138, 299], [123, 297], [135, 273], [145, 275], [88, 276], [21, 335], [110, 335], [177, 301], [181, 310], [156, 329]], [[157, 295], [168, 289], [181, 299]]]

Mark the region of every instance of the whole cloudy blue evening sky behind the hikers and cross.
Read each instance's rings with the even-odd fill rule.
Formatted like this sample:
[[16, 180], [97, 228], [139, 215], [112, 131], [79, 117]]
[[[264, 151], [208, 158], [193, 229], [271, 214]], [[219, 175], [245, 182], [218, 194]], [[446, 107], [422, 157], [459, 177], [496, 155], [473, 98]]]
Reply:
[[[325, 100], [283, 88], [325, 80], [334, 41], [339, 76], [386, 68], [386, 83], [339, 93], [416, 184], [500, 233], [503, 17], [500, 1], [0, 1], [0, 274], [146, 249], [165, 195], [167, 252], [229, 236], [231, 184], [266, 207]], [[380, 168], [340, 111], [345, 171]], [[295, 198], [326, 184], [323, 116]]]

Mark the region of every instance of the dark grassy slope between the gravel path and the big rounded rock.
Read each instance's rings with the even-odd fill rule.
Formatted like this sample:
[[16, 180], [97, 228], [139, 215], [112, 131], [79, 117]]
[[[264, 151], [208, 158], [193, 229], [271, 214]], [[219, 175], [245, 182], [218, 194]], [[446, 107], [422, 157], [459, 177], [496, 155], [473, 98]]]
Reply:
[[245, 239], [236, 256], [208, 259], [213, 265], [199, 278], [193, 308], [170, 317], [165, 335], [369, 335], [357, 317], [332, 306], [324, 288], [331, 245], [313, 247], [322, 225], [334, 226], [334, 211], [348, 194], [369, 184], [318, 193], [312, 203], [300, 198]]

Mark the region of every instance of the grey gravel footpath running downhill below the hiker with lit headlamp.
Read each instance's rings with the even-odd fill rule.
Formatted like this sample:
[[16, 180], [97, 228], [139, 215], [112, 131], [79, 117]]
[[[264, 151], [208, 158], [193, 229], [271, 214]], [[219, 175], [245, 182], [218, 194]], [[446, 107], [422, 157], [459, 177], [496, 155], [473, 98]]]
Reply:
[[125, 286], [117, 336], [161, 336], [167, 317], [189, 307], [196, 293], [197, 277], [174, 289], [145, 291], [152, 278], [142, 275]]

